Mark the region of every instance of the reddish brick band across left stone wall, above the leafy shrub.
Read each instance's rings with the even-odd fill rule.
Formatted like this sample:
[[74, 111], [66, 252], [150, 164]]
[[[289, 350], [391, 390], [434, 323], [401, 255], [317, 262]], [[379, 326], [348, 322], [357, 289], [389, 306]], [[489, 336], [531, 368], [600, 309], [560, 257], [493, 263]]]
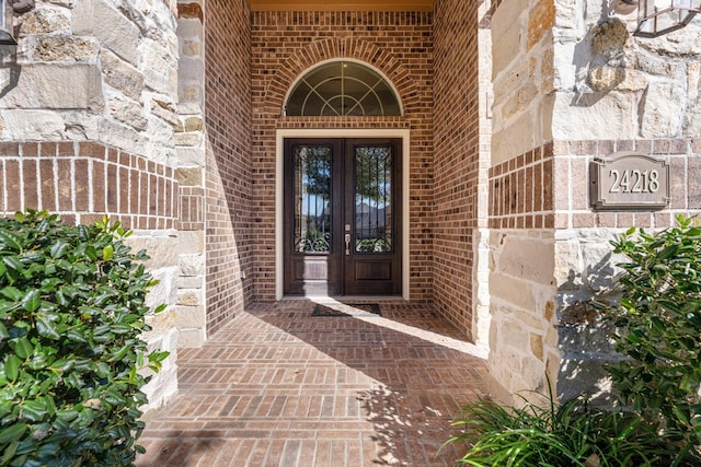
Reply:
[[174, 171], [99, 142], [0, 143], [0, 211], [58, 212], [89, 224], [107, 214], [126, 229], [173, 229]]

